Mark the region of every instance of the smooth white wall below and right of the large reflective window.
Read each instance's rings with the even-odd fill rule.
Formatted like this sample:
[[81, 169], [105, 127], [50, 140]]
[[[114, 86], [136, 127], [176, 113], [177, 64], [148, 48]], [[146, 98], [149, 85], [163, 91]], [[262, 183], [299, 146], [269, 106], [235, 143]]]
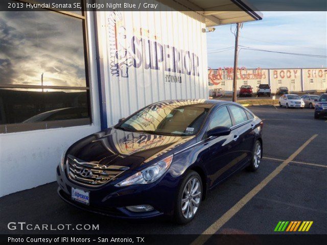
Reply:
[[100, 130], [92, 12], [87, 12], [93, 125], [0, 134], [0, 197], [56, 180], [56, 166], [72, 143]]

